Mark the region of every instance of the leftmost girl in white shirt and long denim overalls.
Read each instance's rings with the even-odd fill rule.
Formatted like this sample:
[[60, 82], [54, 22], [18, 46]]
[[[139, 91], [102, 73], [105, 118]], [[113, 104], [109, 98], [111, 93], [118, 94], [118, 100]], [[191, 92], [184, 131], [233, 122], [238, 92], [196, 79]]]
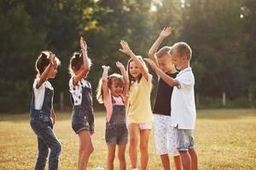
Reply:
[[43, 51], [36, 61], [38, 76], [32, 86], [31, 127], [38, 136], [38, 160], [35, 169], [44, 169], [49, 154], [49, 169], [58, 169], [61, 144], [53, 132], [55, 111], [54, 88], [48, 82], [55, 78], [60, 60], [50, 51]]

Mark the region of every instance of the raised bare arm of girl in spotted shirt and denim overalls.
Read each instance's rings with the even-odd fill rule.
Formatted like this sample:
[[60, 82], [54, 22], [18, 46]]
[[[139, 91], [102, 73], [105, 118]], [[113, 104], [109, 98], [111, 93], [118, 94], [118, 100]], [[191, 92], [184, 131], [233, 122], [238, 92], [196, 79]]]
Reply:
[[90, 60], [87, 55], [87, 44], [83, 37], [80, 38], [80, 47], [83, 54], [84, 68], [82, 68], [82, 71], [80, 71], [78, 75], [73, 77], [73, 86], [75, 86], [82, 78], [86, 77], [90, 71]]

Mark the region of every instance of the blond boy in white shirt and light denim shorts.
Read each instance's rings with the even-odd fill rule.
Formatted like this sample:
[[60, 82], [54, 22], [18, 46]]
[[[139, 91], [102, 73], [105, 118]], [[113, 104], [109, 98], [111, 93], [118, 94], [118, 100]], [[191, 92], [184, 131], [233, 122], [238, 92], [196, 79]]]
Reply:
[[170, 86], [172, 92], [172, 127], [177, 128], [177, 150], [181, 156], [183, 170], [198, 169], [197, 154], [194, 148], [195, 128], [195, 77], [189, 66], [192, 51], [185, 42], [175, 43], [171, 50], [172, 62], [181, 70], [175, 79], [161, 71], [154, 61], [147, 59], [148, 64]]

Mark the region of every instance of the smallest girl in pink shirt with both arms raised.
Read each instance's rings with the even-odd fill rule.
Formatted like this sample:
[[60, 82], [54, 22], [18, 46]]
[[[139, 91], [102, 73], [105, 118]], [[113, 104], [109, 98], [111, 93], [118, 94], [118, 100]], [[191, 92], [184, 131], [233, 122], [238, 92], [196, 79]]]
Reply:
[[103, 65], [102, 79], [97, 89], [99, 103], [104, 103], [107, 110], [105, 140], [108, 144], [107, 169], [113, 170], [116, 144], [118, 144], [119, 169], [126, 169], [125, 148], [128, 142], [128, 129], [125, 118], [125, 97], [129, 88], [128, 75], [124, 65], [116, 62], [122, 76], [112, 74], [108, 77], [109, 66]]

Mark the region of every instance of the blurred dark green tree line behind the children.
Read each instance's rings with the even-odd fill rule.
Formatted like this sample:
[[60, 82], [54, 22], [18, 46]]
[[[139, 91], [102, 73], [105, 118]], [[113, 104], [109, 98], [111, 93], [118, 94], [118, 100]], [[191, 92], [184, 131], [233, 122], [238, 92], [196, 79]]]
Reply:
[[88, 80], [95, 91], [101, 65], [110, 65], [111, 72], [118, 71], [116, 60], [126, 65], [120, 39], [148, 57], [166, 26], [172, 26], [172, 36], [162, 46], [183, 41], [193, 50], [198, 107], [221, 106], [223, 93], [228, 106], [251, 107], [256, 104], [255, 20], [254, 0], [0, 0], [0, 112], [29, 110], [34, 63], [42, 50], [61, 59], [51, 82], [56, 108], [63, 94], [67, 109], [67, 67], [80, 36], [89, 46]]

